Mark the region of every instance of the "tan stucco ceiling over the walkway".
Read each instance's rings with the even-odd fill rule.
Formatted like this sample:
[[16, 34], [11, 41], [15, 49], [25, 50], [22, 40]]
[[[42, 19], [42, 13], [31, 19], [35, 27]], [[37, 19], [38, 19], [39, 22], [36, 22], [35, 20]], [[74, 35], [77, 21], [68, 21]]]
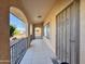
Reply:
[[[33, 23], [43, 22], [56, 0], [22, 0]], [[42, 17], [38, 17], [38, 16]]]

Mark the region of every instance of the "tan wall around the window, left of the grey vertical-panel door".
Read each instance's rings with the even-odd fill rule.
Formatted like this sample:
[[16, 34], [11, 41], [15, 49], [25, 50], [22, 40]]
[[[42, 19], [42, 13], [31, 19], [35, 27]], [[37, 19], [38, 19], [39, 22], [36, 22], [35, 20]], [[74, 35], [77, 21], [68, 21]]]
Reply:
[[[56, 15], [63, 10], [67, 5], [69, 5], [73, 0], [57, 0], [54, 8], [49, 12], [49, 14], [44, 20], [44, 25], [49, 22], [51, 23], [51, 39], [44, 39], [47, 41], [49, 48], [56, 53]], [[48, 42], [49, 41], [49, 42]]]

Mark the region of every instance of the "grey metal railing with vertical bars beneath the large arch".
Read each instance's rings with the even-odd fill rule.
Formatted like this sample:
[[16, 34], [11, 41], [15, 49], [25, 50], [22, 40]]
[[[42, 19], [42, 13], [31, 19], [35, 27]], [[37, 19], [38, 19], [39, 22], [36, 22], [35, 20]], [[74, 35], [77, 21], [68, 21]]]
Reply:
[[26, 53], [27, 38], [23, 38], [11, 46], [11, 64], [19, 64]]

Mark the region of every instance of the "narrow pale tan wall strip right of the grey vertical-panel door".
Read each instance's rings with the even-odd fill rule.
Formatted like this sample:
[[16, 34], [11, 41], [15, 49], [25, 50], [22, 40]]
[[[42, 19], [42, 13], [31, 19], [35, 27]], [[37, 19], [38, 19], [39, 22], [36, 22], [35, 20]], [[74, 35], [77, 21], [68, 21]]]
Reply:
[[81, 0], [80, 2], [80, 64], [85, 64], [85, 0]]

